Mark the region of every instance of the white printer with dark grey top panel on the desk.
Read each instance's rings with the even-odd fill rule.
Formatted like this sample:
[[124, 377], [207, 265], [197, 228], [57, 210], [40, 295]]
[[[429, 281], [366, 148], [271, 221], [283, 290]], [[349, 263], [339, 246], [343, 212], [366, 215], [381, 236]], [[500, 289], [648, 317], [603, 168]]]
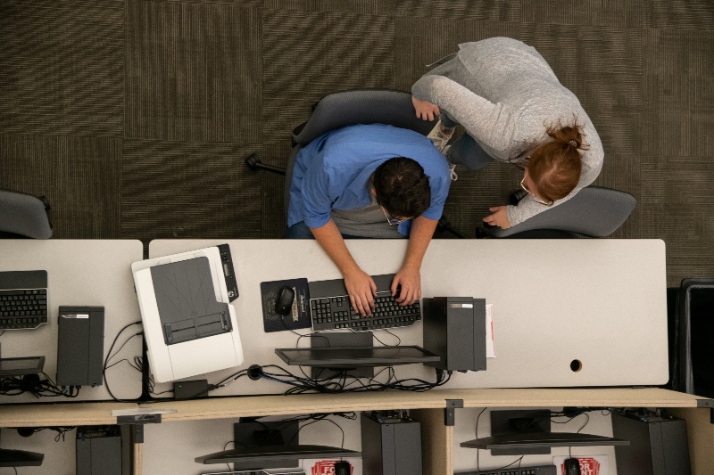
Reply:
[[158, 382], [243, 363], [236, 310], [217, 247], [131, 265], [149, 364]]

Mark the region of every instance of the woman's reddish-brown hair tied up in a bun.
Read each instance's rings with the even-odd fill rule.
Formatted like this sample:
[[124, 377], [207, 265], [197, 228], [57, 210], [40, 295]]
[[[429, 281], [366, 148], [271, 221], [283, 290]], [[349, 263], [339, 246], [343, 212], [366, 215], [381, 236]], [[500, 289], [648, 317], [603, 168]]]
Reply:
[[587, 150], [587, 145], [583, 143], [583, 126], [575, 118], [572, 125], [558, 122], [546, 132], [552, 140], [535, 147], [525, 165], [538, 196], [556, 201], [568, 196], [580, 181], [583, 158], [578, 150]]

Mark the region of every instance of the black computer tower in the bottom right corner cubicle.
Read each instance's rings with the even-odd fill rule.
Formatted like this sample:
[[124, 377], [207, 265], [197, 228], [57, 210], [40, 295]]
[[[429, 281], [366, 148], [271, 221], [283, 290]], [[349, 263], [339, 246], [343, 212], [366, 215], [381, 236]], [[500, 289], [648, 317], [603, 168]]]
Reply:
[[686, 421], [655, 414], [612, 414], [618, 475], [690, 475]]

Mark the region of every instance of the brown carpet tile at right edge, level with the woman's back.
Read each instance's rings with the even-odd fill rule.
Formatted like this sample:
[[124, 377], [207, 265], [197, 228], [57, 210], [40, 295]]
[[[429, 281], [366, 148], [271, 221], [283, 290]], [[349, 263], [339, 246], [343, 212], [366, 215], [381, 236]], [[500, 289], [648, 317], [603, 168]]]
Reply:
[[643, 153], [714, 156], [714, 31], [643, 37]]

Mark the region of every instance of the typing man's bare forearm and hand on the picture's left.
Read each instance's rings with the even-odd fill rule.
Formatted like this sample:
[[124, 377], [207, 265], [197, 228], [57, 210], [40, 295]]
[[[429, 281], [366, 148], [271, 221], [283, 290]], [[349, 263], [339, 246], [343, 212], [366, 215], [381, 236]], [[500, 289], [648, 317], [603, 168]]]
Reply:
[[[350, 296], [352, 307], [360, 312], [361, 315], [372, 315], [374, 296], [377, 295], [377, 284], [374, 283], [369, 274], [361, 270], [360, 266], [357, 266], [357, 263], [354, 262], [335, 221], [330, 219], [327, 225], [311, 228], [311, 231], [312, 235], [315, 236], [315, 240], [320, 242], [322, 249], [328, 253], [328, 256], [345, 278], [345, 287]], [[419, 262], [421, 262], [420, 259]]]

